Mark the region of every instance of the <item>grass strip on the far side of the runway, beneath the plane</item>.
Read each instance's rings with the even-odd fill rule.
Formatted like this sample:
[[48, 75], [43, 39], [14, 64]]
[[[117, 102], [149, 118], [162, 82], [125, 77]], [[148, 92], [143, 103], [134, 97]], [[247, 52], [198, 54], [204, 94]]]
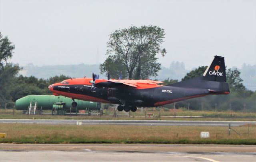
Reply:
[[[182, 112], [170, 112], [170, 111], [153, 111], [152, 108], [146, 111], [146, 114], [153, 114], [152, 117], [145, 118], [145, 111], [129, 113], [119, 112], [118, 118], [113, 118], [113, 111], [106, 110], [104, 116], [53, 116], [53, 115], [27, 115], [23, 114], [21, 110], [4, 110], [0, 109], [1, 119], [105, 119], [105, 120], [223, 120], [223, 121], [256, 121], [255, 112], [214, 112], [214, 111], [182, 111]], [[172, 116], [172, 117], [170, 117]], [[176, 116], [174, 118], [174, 116]], [[187, 116], [188, 118], [179, 118], [177, 116]], [[192, 118], [190, 118], [190, 116]], [[194, 116], [202, 116], [201, 118], [193, 118]]]

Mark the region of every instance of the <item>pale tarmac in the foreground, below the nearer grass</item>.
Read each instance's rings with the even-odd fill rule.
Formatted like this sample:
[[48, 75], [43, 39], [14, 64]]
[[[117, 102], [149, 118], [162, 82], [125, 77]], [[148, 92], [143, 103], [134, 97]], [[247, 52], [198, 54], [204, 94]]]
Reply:
[[186, 144], [0, 144], [0, 161], [251, 162], [256, 147]]

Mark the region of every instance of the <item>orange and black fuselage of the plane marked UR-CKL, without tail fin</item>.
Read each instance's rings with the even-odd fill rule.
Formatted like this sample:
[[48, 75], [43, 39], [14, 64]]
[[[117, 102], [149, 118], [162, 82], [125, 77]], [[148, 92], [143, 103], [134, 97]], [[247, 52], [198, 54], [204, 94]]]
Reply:
[[[209, 94], [229, 93], [227, 83], [211, 82], [202, 79], [202, 77], [196, 78], [187, 83], [184, 81], [185, 83], [181, 85], [156, 85], [154, 87], [135, 88], [120, 84], [116, 87], [96, 86], [93, 90], [92, 84], [90, 84], [92, 78], [74, 78], [66, 80], [69, 84], [57, 83], [49, 86], [49, 88], [54, 95], [66, 96], [72, 99], [147, 107], [162, 106]], [[222, 90], [217, 90], [216, 87], [222, 87]]]

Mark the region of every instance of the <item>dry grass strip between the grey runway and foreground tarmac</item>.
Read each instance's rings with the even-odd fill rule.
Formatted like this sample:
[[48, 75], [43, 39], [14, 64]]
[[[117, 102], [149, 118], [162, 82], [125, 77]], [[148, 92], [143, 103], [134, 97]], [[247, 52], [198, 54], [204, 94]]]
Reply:
[[[158, 143], [158, 144], [256, 144], [256, 126], [130, 126], [1, 124], [7, 133], [2, 143]], [[200, 138], [210, 132], [210, 138]]]

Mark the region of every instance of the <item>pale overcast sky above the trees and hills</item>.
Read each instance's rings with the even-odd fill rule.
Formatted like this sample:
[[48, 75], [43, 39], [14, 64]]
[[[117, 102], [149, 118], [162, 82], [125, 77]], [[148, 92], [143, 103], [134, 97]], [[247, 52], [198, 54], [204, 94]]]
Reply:
[[256, 64], [256, 0], [0, 0], [0, 32], [24, 66], [96, 64], [109, 34], [130, 25], [165, 30], [159, 62], [186, 69], [224, 56], [228, 67]]

